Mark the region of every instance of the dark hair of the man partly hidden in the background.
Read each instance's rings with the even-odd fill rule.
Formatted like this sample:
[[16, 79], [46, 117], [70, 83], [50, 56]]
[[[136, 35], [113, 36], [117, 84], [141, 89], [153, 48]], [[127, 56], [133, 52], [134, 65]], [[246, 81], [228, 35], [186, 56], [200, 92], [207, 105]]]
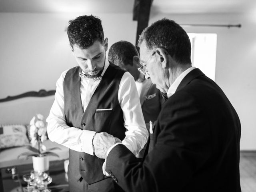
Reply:
[[136, 47], [128, 41], [114, 43], [108, 52], [108, 60], [115, 65], [133, 66], [133, 57], [139, 56]]

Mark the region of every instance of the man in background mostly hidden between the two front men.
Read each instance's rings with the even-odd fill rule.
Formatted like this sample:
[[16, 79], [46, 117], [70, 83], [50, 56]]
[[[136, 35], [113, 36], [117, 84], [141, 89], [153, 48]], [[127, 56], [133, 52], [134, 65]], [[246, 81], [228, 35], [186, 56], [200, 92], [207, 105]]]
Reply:
[[[129, 72], [135, 80], [136, 88], [140, 97], [140, 105], [149, 131], [150, 121], [156, 121], [164, 102], [160, 91], [156, 85], [152, 84], [150, 79], [146, 79], [143, 74], [138, 71], [140, 65], [140, 56], [136, 47], [128, 41], [118, 41], [114, 43], [108, 52], [108, 60], [119, 66], [124, 71]], [[142, 158], [146, 145], [137, 155]]]

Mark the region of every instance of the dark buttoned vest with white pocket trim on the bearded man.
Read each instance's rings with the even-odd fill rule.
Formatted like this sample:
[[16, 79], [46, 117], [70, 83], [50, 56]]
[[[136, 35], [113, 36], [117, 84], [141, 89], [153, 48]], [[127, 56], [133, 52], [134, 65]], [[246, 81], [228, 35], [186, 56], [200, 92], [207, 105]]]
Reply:
[[[124, 71], [110, 63], [85, 111], [83, 111], [80, 96], [79, 72], [81, 72], [81, 68], [76, 66], [68, 70], [64, 78], [66, 124], [81, 130], [107, 132], [123, 140], [126, 128], [124, 127], [122, 109], [119, 105], [118, 88]], [[106, 178], [102, 173], [104, 159], [70, 149], [69, 161], [68, 177], [76, 180], [83, 178], [88, 184]]]

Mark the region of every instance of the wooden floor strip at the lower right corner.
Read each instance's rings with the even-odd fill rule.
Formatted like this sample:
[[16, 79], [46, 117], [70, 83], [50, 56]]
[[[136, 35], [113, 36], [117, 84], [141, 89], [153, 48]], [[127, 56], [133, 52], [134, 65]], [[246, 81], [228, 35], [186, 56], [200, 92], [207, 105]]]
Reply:
[[256, 151], [240, 152], [240, 183], [242, 192], [256, 192]]

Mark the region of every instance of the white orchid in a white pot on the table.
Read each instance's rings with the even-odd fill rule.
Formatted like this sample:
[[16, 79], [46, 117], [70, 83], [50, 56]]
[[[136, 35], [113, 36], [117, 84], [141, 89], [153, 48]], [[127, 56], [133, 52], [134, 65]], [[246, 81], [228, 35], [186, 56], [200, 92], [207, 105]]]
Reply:
[[25, 156], [26, 158], [32, 156], [33, 168], [35, 171], [46, 171], [49, 169], [49, 155], [57, 156], [56, 153], [50, 152], [58, 147], [46, 149], [43, 142], [47, 140], [47, 128], [44, 124], [44, 116], [37, 114], [30, 120], [28, 136], [30, 138], [29, 146], [25, 146], [29, 152], [24, 152], [18, 156]]

